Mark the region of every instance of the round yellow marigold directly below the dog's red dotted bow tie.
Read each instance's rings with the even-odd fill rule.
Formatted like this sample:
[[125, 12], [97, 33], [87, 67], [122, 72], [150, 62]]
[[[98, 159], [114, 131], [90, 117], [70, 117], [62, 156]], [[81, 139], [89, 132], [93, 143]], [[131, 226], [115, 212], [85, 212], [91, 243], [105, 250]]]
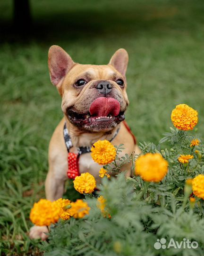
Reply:
[[96, 187], [96, 181], [92, 174], [84, 173], [76, 176], [74, 180], [74, 188], [79, 193], [92, 193]]

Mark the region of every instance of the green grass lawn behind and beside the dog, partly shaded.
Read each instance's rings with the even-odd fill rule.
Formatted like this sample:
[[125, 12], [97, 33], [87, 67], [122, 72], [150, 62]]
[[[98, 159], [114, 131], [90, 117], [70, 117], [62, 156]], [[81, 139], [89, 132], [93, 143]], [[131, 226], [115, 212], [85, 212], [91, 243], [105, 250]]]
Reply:
[[138, 142], [157, 143], [171, 110], [187, 103], [204, 125], [202, 0], [33, 0], [29, 37], [11, 31], [11, 1], [0, 3], [0, 254], [37, 255], [29, 211], [44, 197], [47, 149], [62, 117], [47, 52], [62, 46], [76, 62], [106, 64], [129, 53], [126, 119]]

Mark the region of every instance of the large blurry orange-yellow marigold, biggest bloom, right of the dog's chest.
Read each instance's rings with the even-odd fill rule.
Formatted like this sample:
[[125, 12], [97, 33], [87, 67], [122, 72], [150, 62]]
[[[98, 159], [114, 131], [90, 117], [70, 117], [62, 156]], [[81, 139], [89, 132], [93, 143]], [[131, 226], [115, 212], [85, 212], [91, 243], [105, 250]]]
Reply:
[[135, 174], [144, 181], [160, 182], [168, 172], [168, 162], [159, 154], [147, 153], [136, 160]]

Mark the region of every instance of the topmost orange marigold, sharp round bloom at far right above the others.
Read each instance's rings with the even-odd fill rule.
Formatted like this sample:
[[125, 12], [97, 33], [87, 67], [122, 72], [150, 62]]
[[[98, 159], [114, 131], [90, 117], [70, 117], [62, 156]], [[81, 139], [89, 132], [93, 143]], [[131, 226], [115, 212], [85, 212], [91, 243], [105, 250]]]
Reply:
[[198, 113], [186, 104], [179, 104], [171, 112], [171, 121], [179, 130], [193, 130], [198, 122]]

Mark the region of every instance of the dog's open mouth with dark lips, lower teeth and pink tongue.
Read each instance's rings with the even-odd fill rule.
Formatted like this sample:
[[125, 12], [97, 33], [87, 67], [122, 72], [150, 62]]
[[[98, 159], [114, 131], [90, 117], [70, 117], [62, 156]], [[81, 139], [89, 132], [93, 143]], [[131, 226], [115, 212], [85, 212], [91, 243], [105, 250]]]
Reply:
[[125, 119], [124, 111], [120, 111], [119, 102], [105, 97], [93, 101], [87, 113], [79, 114], [69, 109], [67, 116], [74, 125], [91, 131], [110, 130]]

